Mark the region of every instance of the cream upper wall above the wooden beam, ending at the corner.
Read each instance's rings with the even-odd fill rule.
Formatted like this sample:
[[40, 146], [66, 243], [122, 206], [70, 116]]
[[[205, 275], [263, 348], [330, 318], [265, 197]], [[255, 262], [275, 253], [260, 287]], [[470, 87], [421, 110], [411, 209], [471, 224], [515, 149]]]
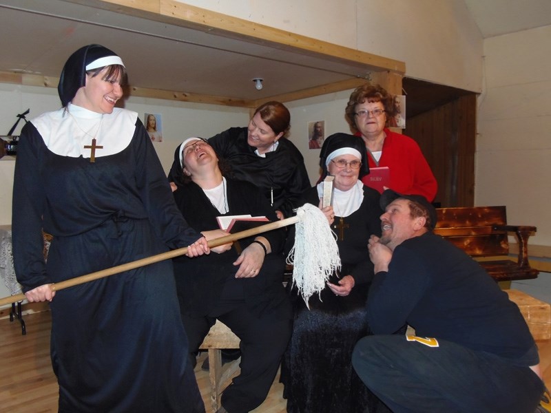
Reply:
[[463, 0], [178, 1], [404, 61], [408, 77], [481, 91], [482, 36]]

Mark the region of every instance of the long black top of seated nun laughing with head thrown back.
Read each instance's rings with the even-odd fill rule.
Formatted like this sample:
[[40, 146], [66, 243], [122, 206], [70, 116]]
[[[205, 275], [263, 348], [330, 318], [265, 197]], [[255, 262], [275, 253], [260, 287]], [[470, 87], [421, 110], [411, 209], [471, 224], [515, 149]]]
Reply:
[[[174, 199], [184, 218], [196, 231], [219, 229], [216, 217], [222, 214], [195, 182], [179, 184], [178, 189], [174, 191]], [[271, 221], [277, 221], [269, 202], [249, 182], [227, 180], [227, 202], [229, 212], [225, 215], [264, 215]], [[218, 302], [227, 282], [234, 283], [231, 286], [234, 290], [242, 288], [242, 298], [247, 306], [259, 315], [287, 299], [282, 287], [284, 257], [281, 254], [285, 231], [276, 229], [260, 235], [269, 241], [271, 253], [264, 258], [260, 273], [256, 277], [235, 278], [239, 268], [233, 265], [239, 256], [235, 246], [225, 253], [211, 252], [193, 260], [187, 257], [176, 258], [174, 274], [180, 303], [185, 306], [184, 310], [194, 315], [207, 315]], [[256, 235], [244, 238], [238, 243], [241, 248], [246, 248], [255, 237]]]

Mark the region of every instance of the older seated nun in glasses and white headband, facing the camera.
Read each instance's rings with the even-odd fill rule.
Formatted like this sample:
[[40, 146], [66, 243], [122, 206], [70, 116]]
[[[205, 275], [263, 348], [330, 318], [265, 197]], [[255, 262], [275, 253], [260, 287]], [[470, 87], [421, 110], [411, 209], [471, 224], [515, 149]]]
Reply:
[[[334, 176], [332, 207], [322, 209], [337, 235], [342, 268], [309, 308], [291, 289], [293, 334], [282, 363], [282, 383], [290, 413], [372, 413], [379, 401], [352, 367], [355, 343], [368, 335], [365, 302], [373, 279], [367, 242], [381, 233], [380, 194], [360, 180], [369, 173], [362, 138], [333, 134], [320, 152], [322, 179]], [[302, 204], [320, 205], [323, 182], [303, 194]], [[295, 261], [300, 257], [295, 257]]]

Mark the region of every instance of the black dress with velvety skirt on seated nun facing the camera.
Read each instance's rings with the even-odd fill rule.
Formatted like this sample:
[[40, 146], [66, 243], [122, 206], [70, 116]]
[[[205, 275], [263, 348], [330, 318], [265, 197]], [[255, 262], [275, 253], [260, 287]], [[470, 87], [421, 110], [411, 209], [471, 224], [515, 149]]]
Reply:
[[[308, 309], [298, 290], [291, 290], [293, 335], [281, 373], [289, 413], [389, 412], [357, 377], [351, 361], [355, 343], [370, 333], [365, 303], [373, 264], [367, 243], [372, 234], [381, 235], [380, 195], [368, 187], [363, 191], [360, 208], [343, 218], [342, 233], [340, 217], [335, 216], [331, 225], [339, 236], [340, 273], [355, 279], [351, 293], [337, 297], [326, 286], [320, 296], [310, 297]], [[304, 200], [317, 206], [317, 189], [306, 191]], [[330, 282], [337, 284], [337, 275], [333, 274]]]

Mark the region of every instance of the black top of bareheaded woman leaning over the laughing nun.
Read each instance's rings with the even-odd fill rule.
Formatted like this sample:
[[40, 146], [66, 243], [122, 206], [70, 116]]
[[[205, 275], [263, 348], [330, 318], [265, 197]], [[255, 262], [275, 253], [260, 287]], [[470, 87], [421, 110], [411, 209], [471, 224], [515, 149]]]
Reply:
[[300, 151], [287, 138], [278, 142], [278, 148], [262, 158], [247, 143], [246, 127], [232, 127], [209, 138], [218, 156], [229, 162], [233, 178], [252, 182], [268, 200], [273, 196], [273, 209], [289, 218], [293, 209], [300, 207], [298, 199], [310, 181]]

